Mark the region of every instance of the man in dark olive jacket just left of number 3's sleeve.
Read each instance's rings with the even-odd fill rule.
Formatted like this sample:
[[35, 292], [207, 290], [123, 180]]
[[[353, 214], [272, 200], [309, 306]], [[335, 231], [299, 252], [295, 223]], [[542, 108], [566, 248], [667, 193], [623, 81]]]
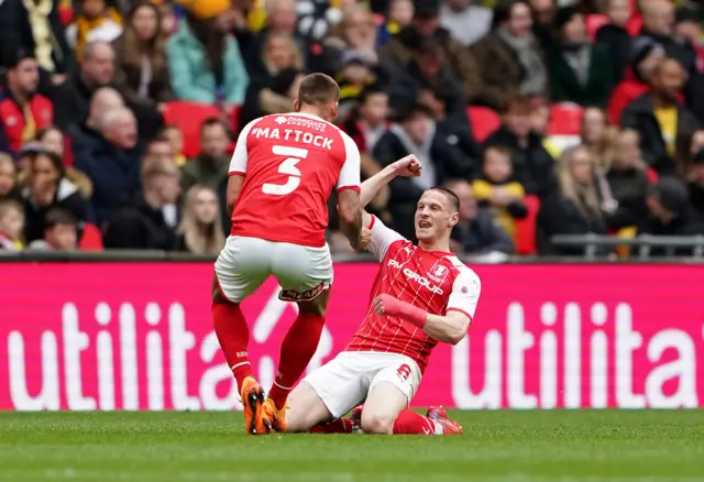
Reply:
[[200, 154], [184, 165], [182, 190], [187, 193], [196, 184], [217, 189], [228, 178], [228, 127], [219, 119], [208, 119], [200, 125]]

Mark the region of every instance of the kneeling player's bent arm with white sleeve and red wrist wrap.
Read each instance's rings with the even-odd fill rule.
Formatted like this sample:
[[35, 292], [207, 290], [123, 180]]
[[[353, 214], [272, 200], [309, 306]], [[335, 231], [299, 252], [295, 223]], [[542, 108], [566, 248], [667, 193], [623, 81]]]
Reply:
[[377, 296], [372, 306], [378, 315], [397, 316], [416, 325], [435, 340], [457, 344], [470, 328], [481, 291], [479, 277], [466, 270], [460, 273], [452, 285], [444, 316], [429, 314], [389, 295]]

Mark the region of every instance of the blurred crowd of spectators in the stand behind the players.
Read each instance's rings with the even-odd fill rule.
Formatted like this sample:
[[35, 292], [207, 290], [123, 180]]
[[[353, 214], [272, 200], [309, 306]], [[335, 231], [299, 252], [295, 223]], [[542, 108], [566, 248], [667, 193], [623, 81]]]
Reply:
[[0, 0], [0, 249], [218, 253], [239, 129], [310, 72], [340, 84], [363, 179], [424, 164], [369, 207], [410, 239], [433, 185], [461, 254], [704, 234], [698, 3]]

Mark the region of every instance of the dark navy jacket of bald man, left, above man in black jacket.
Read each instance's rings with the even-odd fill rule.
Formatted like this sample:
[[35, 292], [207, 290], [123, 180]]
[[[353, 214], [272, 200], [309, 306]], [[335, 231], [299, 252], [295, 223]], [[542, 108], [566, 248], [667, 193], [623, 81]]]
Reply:
[[114, 211], [140, 188], [142, 167], [141, 147], [122, 151], [102, 140], [76, 155], [76, 168], [92, 182], [91, 205], [98, 226], [109, 220]]

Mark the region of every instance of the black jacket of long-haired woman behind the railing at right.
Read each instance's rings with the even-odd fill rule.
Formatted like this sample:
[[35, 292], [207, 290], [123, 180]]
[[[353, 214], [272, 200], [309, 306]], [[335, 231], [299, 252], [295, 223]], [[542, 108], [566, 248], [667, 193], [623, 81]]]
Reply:
[[[581, 255], [583, 248], [557, 247], [551, 238], [556, 234], [608, 234], [606, 220], [602, 216], [586, 217], [576, 205], [560, 193], [544, 199], [538, 211], [536, 226], [538, 253], [543, 255]], [[607, 248], [597, 249], [606, 254]]]

